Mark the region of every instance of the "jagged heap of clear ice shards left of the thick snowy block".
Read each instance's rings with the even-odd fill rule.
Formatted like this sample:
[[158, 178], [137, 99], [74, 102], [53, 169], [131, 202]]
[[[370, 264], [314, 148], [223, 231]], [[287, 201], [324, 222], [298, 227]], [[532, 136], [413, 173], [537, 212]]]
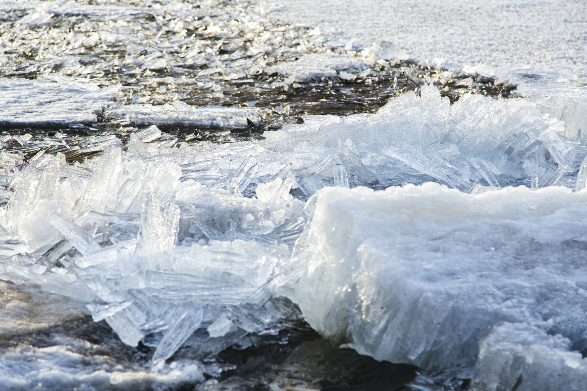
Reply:
[[150, 336], [154, 362], [198, 328], [237, 340], [277, 332], [271, 312], [255, 306], [264, 302], [247, 298], [286, 264], [288, 235], [301, 232], [291, 179], [244, 198], [250, 178], [239, 165], [227, 168], [230, 191], [210, 189], [180, 181], [181, 150], [152, 147], [158, 154], [149, 156], [133, 134], [129, 152], [111, 148], [85, 169], [64, 170], [59, 157], [43, 155], [17, 170], [2, 216], [2, 278], [87, 303], [126, 344]]

